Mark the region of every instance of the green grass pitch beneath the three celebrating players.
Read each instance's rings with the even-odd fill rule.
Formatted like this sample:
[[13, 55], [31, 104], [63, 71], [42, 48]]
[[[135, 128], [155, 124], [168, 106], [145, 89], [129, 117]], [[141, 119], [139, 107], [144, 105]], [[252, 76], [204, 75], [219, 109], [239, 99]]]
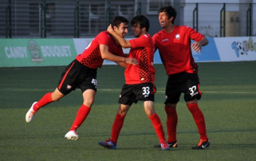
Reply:
[[[77, 141], [68, 132], [82, 104], [80, 90], [41, 108], [31, 123], [25, 114], [31, 104], [56, 87], [64, 67], [0, 68], [0, 160], [255, 160], [256, 62], [198, 63], [202, 99], [211, 145], [192, 150], [199, 141], [196, 125], [183, 96], [178, 104], [178, 148], [154, 149], [158, 138], [143, 103], [131, 106], [121, 130], [118, 149], [98, 141], [110, 137], [118, 109], [124, 69], [106, 65], [98, 70], [96, 100], [78, 129]], [[155, 110], [166, 132], [163, 65], [156, 64]], [[167, 136], [167, 134], [166, 134]]]

